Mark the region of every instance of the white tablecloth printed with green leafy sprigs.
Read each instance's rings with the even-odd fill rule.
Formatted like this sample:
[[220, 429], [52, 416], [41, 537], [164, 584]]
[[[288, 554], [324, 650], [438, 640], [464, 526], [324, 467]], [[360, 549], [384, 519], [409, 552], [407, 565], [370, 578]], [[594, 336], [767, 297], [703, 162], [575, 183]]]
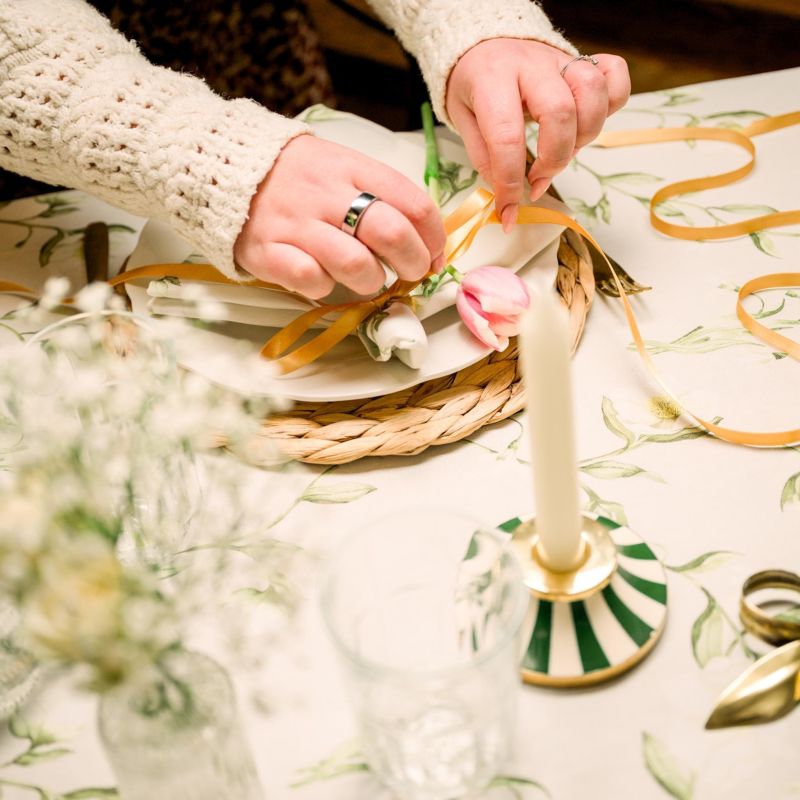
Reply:
[[[795, 110], [799, 84], [797, 69], [638, 95], [609, 127], [735, 128]], [[798, 137], [792, 128], [760, 137], [747, 180], [672, 200], [661, 213], [708, 225], [797, 208]], [[796, 427], [800, 368], [746, 333], [734, 302], [748, 278], [796, 271], [800, 231], [691, 243], [661, 236], [647, 220], [648, 198], [665, 182], [741, 159], [717, 143], [587, 148], [557, 186], [608, 252], [653, 287], [634, 305], [656, 365], [686, 405], [730, 426]], [[113, 225], [113, 269], [143, 220], [80, 192], [7, 204], [0, 277], [36, 286], [48, 274], [82, 280], [81, 233], [96, 219]], [[751, 300], [759, 319], [797, 338], [800, 292]], [[799, 713], [759, 728], [703, 729], [719, 692], [767, 649], [738, 621], [742, 581], [759, 569], [800, 569], [800, 448], [747, 449], [704, 435], [660, 396], [630, 342], [619, 303], [599, 297], [575, 358], [581, 486], [587, 509], [629, 525], [665, 563], [667, 629], [652, 655], [614, 683], [567, 692], [520, 685], [515, 758], [487, 796], [800, 797]], [[495, 522], [530, 513], [527, 447], [520, 414], [416, 458], [298, 467], [265, 484], [269, 533], [322, 560], [343, 536], [406, 504], [452, 506]], [[254, 470], [250, 480], [267, 478]], [[314, 575], [312, 566], [292, 622], [263, 640], [259, 668], [227, 662], [265, 797], [380, 798], [353, 739]], [[249, 645], [259, 650], [258, 641]], [[0, 794], [12, 800], [116, 796], [95, 699], [64, 676], [44, 680], [7, 726], [0, 764]]]

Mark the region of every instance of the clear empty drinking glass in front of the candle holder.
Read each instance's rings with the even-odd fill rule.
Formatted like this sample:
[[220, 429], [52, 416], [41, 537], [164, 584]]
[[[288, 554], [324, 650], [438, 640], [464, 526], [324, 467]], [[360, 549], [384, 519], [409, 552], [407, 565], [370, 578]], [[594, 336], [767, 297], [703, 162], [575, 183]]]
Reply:
[[474, 796], [508, 755], [528, 593], [506, 538], [458, 513], [403, 511], [328, 566], [322, 612], [364, 753], [401, 798]]

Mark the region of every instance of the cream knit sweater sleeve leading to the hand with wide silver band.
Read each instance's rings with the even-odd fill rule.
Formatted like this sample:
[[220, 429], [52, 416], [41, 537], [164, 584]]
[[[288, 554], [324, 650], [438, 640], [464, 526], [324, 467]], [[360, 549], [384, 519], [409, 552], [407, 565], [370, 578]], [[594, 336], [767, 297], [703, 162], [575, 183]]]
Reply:
[[153, 66], [83, 0], [0, 0], [0, 166], [163, 219], [227, 275], [258, 184], [307, 130]]

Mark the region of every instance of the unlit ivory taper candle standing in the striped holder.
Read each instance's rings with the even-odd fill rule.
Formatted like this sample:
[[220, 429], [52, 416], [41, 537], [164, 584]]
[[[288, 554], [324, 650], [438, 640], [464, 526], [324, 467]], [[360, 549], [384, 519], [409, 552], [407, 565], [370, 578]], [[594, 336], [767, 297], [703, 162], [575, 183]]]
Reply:
[[578, 463], [572, 414], [569, 318], [555, 292], [534, 298], [520, 331], [533, 461], [536, 531], [545, 566], [568, 572], [581, 557]]

